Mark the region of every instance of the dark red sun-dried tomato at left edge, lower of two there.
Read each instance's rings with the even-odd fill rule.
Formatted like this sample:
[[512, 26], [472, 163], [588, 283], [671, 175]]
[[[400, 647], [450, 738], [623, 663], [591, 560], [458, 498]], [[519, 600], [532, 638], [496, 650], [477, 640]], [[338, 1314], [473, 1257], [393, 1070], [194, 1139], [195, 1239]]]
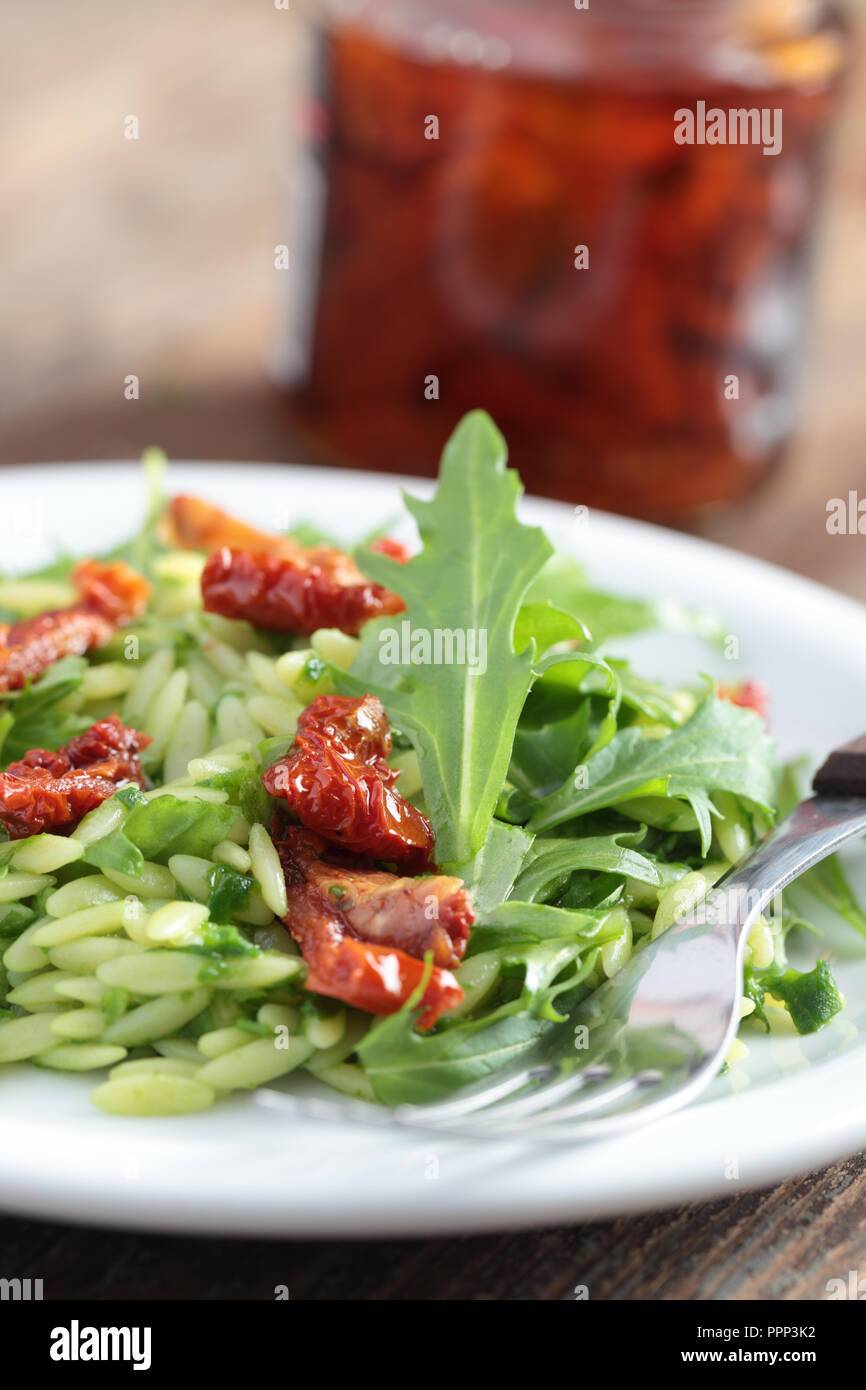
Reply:
[[32, 748], [0, 773], [0, 823], [11, 840], [72, 830], [120, 783], [143, 785], [139, 753], [149, 742], [147, 734], [111, 714], [64, 748]]

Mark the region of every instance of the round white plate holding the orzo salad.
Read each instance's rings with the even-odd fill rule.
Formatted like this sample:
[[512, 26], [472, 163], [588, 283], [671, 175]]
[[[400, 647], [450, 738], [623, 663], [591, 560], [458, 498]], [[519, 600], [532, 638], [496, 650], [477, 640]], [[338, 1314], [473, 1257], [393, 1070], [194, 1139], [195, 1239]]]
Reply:
[[[399, 512], [400, 480], [313, 468], [183, 464], [199, 491], [261, 525], [316, 520], [346, 539]], [[411, 491], [430, 485], [411, 480]], [[100, 549], [133, 530], [133, 464], [7, 468], [3, 567], [56, 548]], [[817, 762], [866, 724], [866, 609], [783, 570], [691, 537], [528, 499], [524, 517], [577, 553], [594, 581], [724, 614], [740, 660], [691, 638], [631, 644], [649, 674], [755, 676], [773, 691], [781, 752]], [[409, 532], [407, 532], [409, 534]], [[858, 862], [859, 859], [859, 862]], [[855, 876], [863, 867], [855, 853]], [[0, 1073], [0, 1204], [10, 1211], [157, 1230], [396, 1236], [535, 1226], [778, 1180], [866, 1145], [866, 942], [828, 927], [848, 1008], [810, 1038], [749, 1040], [710, 1097], [596, 1147], [538, 1151], [318, 1123], [286, 1123], [246, 1095], [178, 1119], [117, 1119], [93, 1081], [17, 1066]]]

